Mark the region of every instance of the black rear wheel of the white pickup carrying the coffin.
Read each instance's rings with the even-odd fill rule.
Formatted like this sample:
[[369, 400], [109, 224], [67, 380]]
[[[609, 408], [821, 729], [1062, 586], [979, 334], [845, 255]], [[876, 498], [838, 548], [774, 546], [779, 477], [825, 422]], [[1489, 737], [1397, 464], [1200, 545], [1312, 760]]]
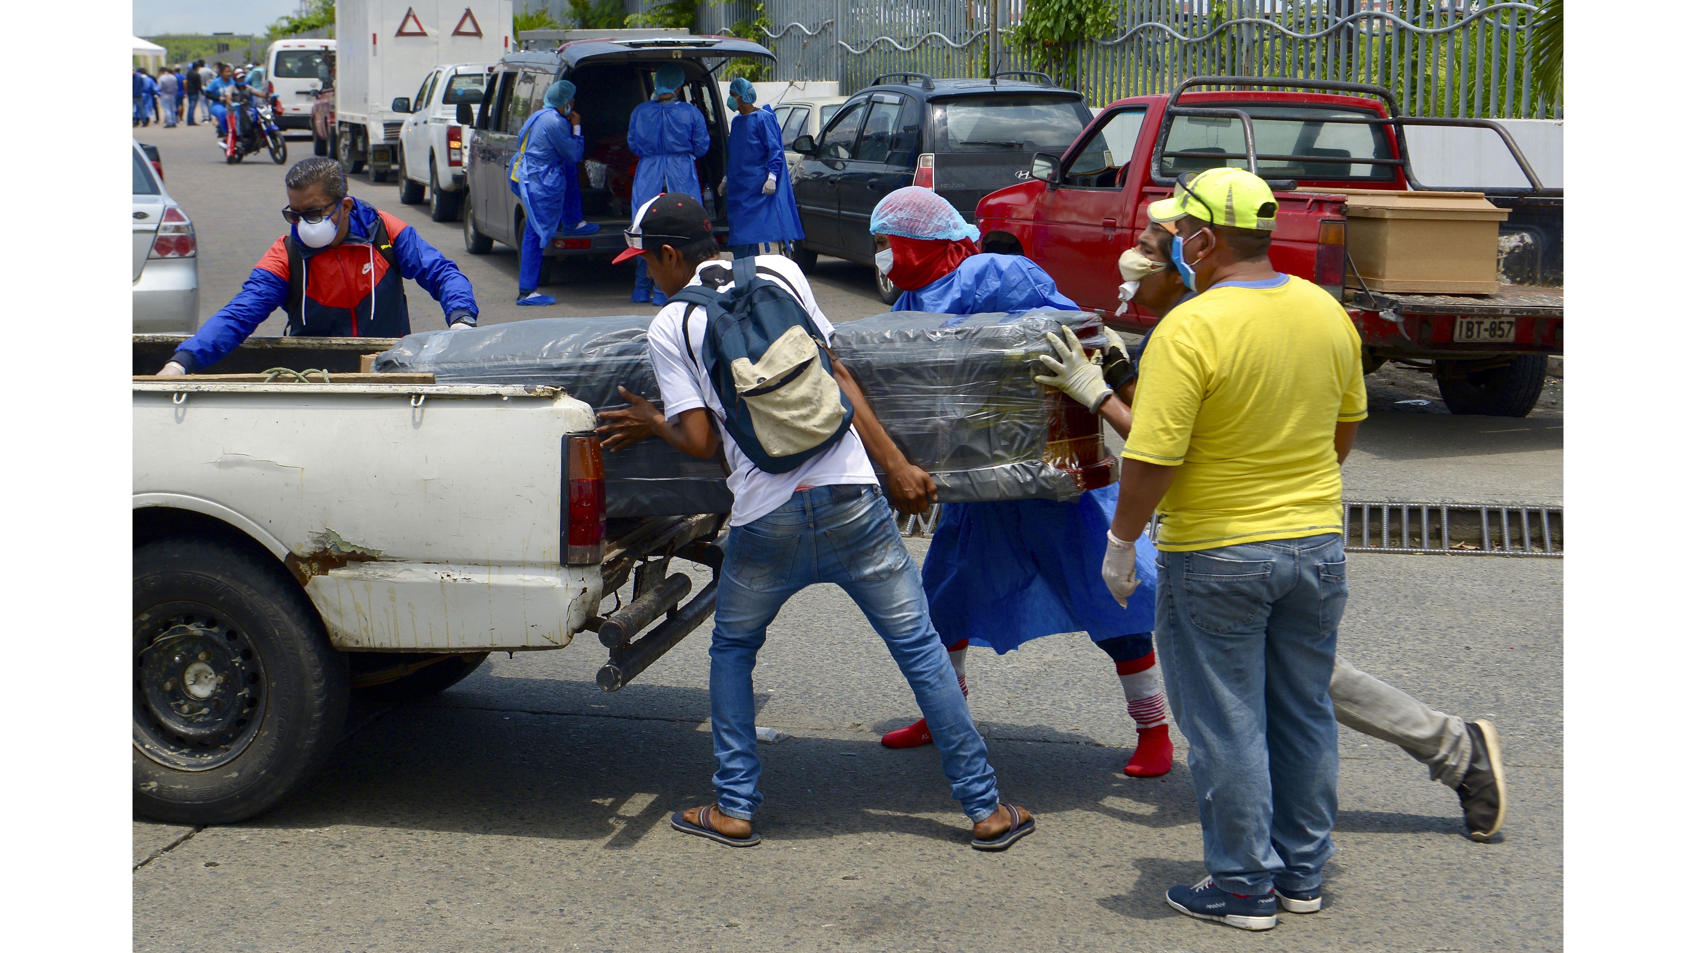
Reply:
[[348, 716], [348, 660], [276, 560], [175, 536], [134, 551], [134, 809], [231, 824], [319, 770]]

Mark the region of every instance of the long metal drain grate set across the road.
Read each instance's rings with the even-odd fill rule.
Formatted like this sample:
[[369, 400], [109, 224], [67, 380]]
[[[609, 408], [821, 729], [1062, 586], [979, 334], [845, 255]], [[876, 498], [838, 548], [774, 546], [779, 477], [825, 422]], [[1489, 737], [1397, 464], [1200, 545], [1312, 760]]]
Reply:
[[[897, 516], [902, 536], [936, 531], [940, 507]], [[1562, 507], [1523, 504], [1345, 502], [1343, 548], [1350, 553], [1445, 556], [1554, 556], [1562, 548]]]

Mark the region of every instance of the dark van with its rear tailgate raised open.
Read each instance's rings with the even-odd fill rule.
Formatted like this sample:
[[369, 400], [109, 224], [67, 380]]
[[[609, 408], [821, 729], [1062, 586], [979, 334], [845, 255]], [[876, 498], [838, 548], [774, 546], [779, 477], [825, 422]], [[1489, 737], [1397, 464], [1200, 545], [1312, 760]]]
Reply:
[[[543, 109], [543, 95], [556, 80], [577, 85], [575, 109], [583, 119], [583, 163], [578, 185], [583, 215], [600, 224], [587, 237], [556, 236], [548, 258], [612, 258], [624, 251], [624, 229], [631, 220], [631, 176], [636, 156], [629, 151], [631, 112], [653, 95], [653, 75], [665, 63], [683, 68], [678, 90], [707, 120], [712, 148], [695, 163], [704, 205], [712, 215], [719, 242], [728, 241], [724, 202], [714, 187], [724, 178], [729, 117], [712, 70], [726, 59], [775, 59], [767, 47], [722, 36], [621, 37], [605, 31], [604, 39], [563, 42], [558, 49], [529, 49], [502, 56], [488, 80], [488, 92], [477, 107], [465, 148], [465, 249], [487, 253], [495, 241], [514, 249], [524, 236], [524, 209], [507, 183], [507, 168], [517, 151], [517, 132], [531, 112]], [[643, 31], [631, 31], [643, 34]], [[470, 103], [461, 114], [470, 112]], [[1029, 163], [1026, 163], [1029, 164]], [[543, 268], [543, 283], [548, 270]]]

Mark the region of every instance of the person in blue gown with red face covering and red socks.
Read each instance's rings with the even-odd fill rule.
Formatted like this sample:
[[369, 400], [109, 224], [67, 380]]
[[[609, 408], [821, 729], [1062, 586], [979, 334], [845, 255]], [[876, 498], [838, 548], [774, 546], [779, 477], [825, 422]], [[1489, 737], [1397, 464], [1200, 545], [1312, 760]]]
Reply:
[[[904, 292], [894, 310], [1079, 310], [1028, 258], [977, 253], [977, 227], [928, 188], [884, 197], [872, 212], [872, 234], [879, 270]], [[967, 695], [967, 646], [1002, 655], [1041, 636], [1089, 633], [1113, 660], [1136, 724], [1136, 751], [1124, 773], [1158, 777], [1172, 770], [1172, 739], [1153, 649], [1155, 549], [1138, 541], [1136, 573], [1145, 585], [1121, 605], [1101, 578], [1118, 500], [1113, 483], [1068, 504], [945, 504], [924, 556], [924, 595]], [[885, 734], [884, 744], [914, 748], [929, 739], [921, 719]]]

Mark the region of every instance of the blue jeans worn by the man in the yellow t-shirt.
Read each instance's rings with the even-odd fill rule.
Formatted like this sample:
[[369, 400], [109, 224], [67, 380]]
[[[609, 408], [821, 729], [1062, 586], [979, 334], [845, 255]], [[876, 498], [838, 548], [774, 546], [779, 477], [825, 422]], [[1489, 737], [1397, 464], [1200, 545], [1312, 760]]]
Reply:
[[1155, 639], [1208, 873], [1233, 894], [1316, 890], [1336, 851], [1343, 538], [1160, 553], [1158, 565]]

